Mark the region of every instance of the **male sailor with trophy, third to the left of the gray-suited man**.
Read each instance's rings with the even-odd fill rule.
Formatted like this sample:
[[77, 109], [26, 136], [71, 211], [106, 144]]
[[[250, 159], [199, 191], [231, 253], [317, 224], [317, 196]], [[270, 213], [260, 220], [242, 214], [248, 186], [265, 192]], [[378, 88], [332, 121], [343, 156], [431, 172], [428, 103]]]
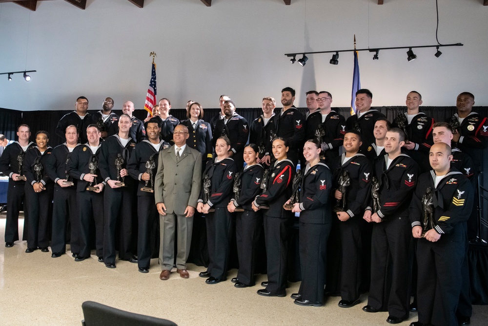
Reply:
[[[98, 261], [103, 261], [103, 194], [105, 182], [102, 181], [98, 162], [100, 160], [100, 129], [97, 125], [86, 128], [88, 143], [76, 147], [71, 153], [68, 174], [77, 181], [76, 197], [79, 207], [79, 222], [75, 226], [80, 231], [80, 247], [76, 251], [71, 246], [75, 261], [84, 261], [90, 257], [90, 224], [95, 221], [95, 246]], [[54, 249], [53, 249], [54, 252]]]

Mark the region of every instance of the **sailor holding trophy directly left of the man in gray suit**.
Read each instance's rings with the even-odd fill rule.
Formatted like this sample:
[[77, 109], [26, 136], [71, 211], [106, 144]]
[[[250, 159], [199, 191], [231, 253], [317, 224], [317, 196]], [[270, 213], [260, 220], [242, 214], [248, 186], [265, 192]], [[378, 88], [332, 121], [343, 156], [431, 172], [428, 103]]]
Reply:
[[138, 143], [130, 156], [127, 171], [134, 179], [139, 180], [137, 187], [137, 258], [141, 273], [149, 272], [151, 249], [154, 243], [151, 239], [158, 239], [155, 231], [159, 229], [158, 210], [154, 201], [154, 174], [158, 166], [158, 156], [162, 149], [170, 145], [160, 140], [160, 120], [152, 118], [145, 126], [148, 139]]

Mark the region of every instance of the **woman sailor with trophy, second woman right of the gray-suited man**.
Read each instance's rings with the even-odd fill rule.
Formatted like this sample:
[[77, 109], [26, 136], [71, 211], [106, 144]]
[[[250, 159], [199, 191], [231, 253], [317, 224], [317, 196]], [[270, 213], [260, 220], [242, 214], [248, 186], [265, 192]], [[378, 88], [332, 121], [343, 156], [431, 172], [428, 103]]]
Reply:
[[239, 212], [236, 216], [237, 256], [239, 271], [237, 278], [232, 279], [238, 288], [253, 286], [254, 251], [258, 245], [260, 226], [263, 224], [261, 212], [254, 212], [251, 204], [261, 193], [264, 168], [257, 163], [259, 149], [256, 144], [244, 148], [244, 170], [234, 179], [234, 197], [227, 205], [229, 212]]

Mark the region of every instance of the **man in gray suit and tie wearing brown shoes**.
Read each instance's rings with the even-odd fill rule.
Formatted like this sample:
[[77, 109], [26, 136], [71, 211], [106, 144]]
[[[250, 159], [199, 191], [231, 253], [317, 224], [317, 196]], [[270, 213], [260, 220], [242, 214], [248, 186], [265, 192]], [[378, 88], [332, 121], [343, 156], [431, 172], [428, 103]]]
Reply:
[[186, 260], [190, 252], [193, 214], [202, 186], [202, 154], [186, 146], [188, 137], [188, 129], [185, 126], [175, 127], [175, 145], [160, 152], [158, 172], [154, 180], [154, 196], [161, 225], [161, 280], [169, 279], [173, 268], [176, 229], [176, 271], [184, 279], [189, 277]]

